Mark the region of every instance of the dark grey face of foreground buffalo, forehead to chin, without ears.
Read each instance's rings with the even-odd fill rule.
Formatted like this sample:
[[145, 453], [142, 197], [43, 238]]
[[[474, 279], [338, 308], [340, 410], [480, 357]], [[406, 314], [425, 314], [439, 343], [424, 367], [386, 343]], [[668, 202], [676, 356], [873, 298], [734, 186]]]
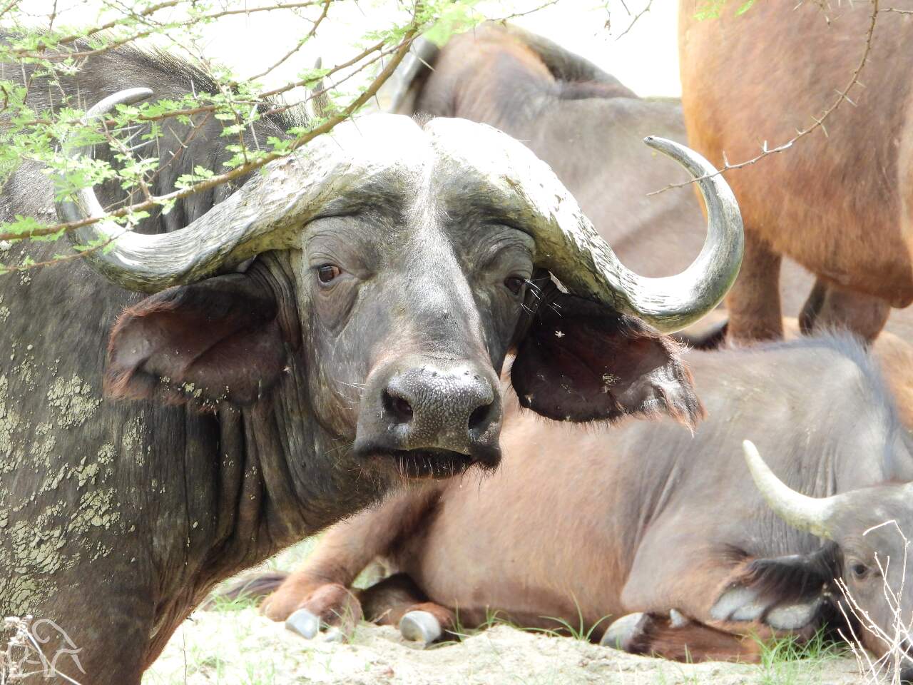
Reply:
[[467, 201], [471, 176], [409, 174], [394, 168], [353, 189], [305, 233], [299, 311], [320, 359], [308, 366], [315, 413], [357, 458], [393, 457], [407, 475], [493, 468], [498, 374], [535, 242]]

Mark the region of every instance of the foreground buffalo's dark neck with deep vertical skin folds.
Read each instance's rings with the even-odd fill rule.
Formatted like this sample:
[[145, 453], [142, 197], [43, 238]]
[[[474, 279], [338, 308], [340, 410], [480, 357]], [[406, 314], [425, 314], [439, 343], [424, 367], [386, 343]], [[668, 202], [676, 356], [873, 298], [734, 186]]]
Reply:
[[213, 449], [184, 451], [195, 463], [187, 463], [188, 475], [178, 480], [203, 476], [197, 488], [208, 491], [180, 502], [182, 528], [198, 534], [175, 533], [156, 550], [159, 600], [150, 662], [215, 584], [380, 497], [377, 479], [353, 474], [350, 445], [299, 406], [293, 388], [303, 379], [291, 366], [267, 401], [224, 407], [209, 418]]

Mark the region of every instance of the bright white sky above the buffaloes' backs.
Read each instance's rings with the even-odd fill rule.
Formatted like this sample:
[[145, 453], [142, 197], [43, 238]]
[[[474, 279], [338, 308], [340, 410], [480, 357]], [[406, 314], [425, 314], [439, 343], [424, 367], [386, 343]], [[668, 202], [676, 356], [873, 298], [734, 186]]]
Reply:
[[[676, 0], [653, 0], [650, 10], [620, 37], [647, 2], [559, 0], [557, 5], [513, 21], [593, 60], [639, 95], [678, 96]], [[99, 4], [93, 0], [57, 0], [56, 4], [58, 21], [74, 25], [98, 20]], [[129, 6], [131, 0], [123, 0], [123, 4]], [[223, 0], [222, 4], [254, 7], [266, 5], [268, 0]], [[541, 0], [485, 0], [477, 7], [483, 15], [495, 18], [508, 15], [511, 8], [522, 10], [540, 4]], [[20, 6], [37, 18], [46, 14], [51, 5], [53, 0], [23, 0]], [[334, 3], [317, 37], [264, 81], [272, 87], [294, 79], [319, 55], [324, 66], [352, 57], [358, 38], [365, 31], [387, 24], [387, 17], [397, 7], [395, 0], [360, 0], [357, 5], [349, 0]], [[609, 17], [611, 24], [606, 28]], [[205, 54], [235, 68], [241, 76], [255, 74], [293, 47], [309, 28], [307, 21], [286, 12], [226, 17], [204, 28]]]

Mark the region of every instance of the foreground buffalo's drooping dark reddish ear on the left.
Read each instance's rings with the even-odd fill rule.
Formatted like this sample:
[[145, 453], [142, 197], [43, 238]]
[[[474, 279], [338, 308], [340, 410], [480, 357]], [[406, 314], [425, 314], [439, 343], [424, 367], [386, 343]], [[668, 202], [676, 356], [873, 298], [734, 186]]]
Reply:
[[105, 392], [117, 398], [249, 405], [278, 381], [286, 345], [272, 292], [244, 274], [163, 290], [110, 333]]

